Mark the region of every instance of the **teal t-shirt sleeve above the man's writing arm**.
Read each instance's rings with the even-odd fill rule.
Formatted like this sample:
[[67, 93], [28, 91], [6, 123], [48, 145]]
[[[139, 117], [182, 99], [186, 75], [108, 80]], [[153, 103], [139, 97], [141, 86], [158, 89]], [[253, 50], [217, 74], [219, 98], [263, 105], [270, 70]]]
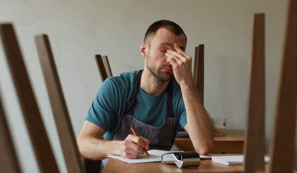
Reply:
[[111, 80], [107, 78], [99, 88], [85, 120], [107, 131], [113, 122], [116, 108], [116, 92]]

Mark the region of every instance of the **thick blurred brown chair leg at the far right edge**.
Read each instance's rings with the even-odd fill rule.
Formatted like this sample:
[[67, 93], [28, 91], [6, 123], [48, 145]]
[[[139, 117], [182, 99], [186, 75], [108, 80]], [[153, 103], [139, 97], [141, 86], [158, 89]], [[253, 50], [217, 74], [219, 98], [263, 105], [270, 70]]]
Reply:
[[297, 97], [297, 0], [290, 0], [288, 4], [276, 116], [271, 140], [269, 170], [273, 173], [292, 172], [294, 165]]

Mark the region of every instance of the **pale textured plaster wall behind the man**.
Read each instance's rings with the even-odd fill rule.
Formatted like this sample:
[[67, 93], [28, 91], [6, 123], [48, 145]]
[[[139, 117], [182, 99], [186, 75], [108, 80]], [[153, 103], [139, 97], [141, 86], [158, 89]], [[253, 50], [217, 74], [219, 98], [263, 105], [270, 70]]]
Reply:
[[[268, 152], [285, 10], [286, 2], [282, 0], [0, 0], [0, 22], [14, 24], [59, 169], [67, 172], [34, 43], [35, 34], [49, 35], [76, 137], [101, 85], [94, 54], [108, 55], [113, 75], [143, 68], [140, 42], [147, 27], [160, 19], [172, 20], [184, 29], [189, 55], [194, 56], [196, 45], [205, 44], [205, 107], [214, 117], [226, 117], [227, 128], [244, 129], [253, 13], [264, 12]], [[22, 170], [39, 172], [2, 45], [0, 91]]]

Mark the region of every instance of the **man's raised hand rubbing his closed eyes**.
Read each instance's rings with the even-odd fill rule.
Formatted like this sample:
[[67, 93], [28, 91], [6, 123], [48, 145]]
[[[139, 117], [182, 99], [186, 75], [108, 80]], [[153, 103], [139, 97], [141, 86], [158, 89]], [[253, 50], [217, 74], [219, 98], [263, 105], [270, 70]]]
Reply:
[[174, 44], [176, 51], [168, 49], [165, 55], [167, 62], [172, 65], [173, 74], [179, 85], [186, 84], [192, 78], [192, 57], [187, 55], [178, 44]]

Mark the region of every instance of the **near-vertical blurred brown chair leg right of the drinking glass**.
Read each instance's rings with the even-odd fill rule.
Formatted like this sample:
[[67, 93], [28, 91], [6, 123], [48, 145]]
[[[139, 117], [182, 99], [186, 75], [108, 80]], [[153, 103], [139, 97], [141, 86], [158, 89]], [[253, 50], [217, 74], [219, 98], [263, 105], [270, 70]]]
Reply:
[[264, 172], [265, 38], [264, 14], [254, 15], [250, 88], [244, 142], [244, 172]]

